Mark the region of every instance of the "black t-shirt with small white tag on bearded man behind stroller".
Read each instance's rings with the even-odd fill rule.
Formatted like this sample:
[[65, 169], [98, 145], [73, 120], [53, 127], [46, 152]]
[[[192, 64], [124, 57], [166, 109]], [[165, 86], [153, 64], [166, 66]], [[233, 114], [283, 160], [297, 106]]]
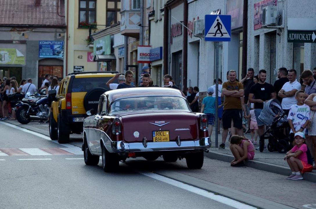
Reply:
[[[254, 99], [261, 99], [263, 101], [271, 99], [271, 93], [275, 92], [273, 86], [270, 83], [256, 83], [250, 88], [251, 94], [253, 94]], [[255, 109], [263, 109], [263, 103], [254, 103]]]

